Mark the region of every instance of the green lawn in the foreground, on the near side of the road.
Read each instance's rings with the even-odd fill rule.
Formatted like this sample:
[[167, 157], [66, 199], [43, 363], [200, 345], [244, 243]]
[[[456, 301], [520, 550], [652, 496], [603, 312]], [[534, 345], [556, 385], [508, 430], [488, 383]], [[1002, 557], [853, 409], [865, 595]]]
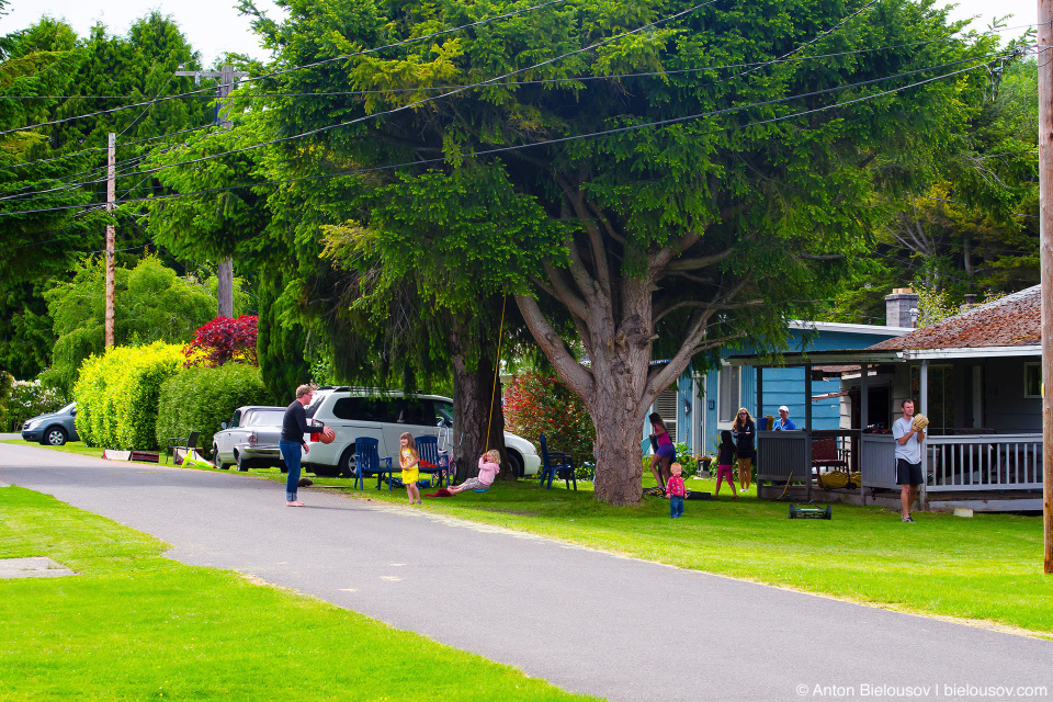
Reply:
[[0, 557], [80, 575], [0, 580], [3, 700], [585, 700], [518, 670], [0, 488]]

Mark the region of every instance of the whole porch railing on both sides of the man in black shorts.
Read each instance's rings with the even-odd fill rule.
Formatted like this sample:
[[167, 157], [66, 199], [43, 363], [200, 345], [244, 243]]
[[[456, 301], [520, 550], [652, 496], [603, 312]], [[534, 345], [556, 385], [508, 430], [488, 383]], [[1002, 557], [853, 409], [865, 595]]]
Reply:
[[[898, 489], [895, 439], [863, 434], [863, 487]], [[922, 451], [926, 492], [1041, 490], [1042, 434], [927, 437]]]

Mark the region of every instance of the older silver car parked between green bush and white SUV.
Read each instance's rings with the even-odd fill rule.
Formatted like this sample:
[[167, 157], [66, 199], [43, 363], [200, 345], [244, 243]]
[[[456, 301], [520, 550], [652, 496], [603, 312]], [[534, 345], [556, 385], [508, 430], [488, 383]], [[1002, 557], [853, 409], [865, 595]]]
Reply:
[[278, 441], [282, 435], [284, 407], [247, 406], [234, 410], [230, 422], [223, 422], [223, 431], [212, 439], [212, 463], [227, 469], [231, 464], [238, 471], [280, 467], [285, 471]]

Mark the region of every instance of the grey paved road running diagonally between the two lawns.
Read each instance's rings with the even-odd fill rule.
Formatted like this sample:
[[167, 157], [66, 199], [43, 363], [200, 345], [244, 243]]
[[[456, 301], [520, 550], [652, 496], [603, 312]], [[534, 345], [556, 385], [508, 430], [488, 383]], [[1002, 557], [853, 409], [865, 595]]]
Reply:
[[[304, 490], [309, 507], [288, 509], [276, 483], [14, 445], [0, 445], [0, 483], [155, 534], [183, 563], [251, 574], [611, 700], [898, 699], [907, 687], [977, 699], [943, 686], [1004, 684], [1053, 697], [1051, 642], [568, 546], [427, 506]], [[420, 607], [407, 608], [415, 595]]]

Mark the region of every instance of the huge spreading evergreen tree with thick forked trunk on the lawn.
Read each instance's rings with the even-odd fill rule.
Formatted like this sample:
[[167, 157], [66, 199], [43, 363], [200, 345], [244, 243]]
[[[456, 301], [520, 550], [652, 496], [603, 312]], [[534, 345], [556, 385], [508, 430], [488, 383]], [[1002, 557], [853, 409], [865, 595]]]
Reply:
[[[346, 227], [385, 274], [440, 261], [439, 302], [464, 314], [462, 295], [514, 294], [592, 417], [597, 499], [635, 505], [658, 394], [831, 295], [880, 189], [953, 148], [989, 45], [908, 0], [568, 0], [361, 53], [528, 4], [291, 0], [283, 23], [257, 21], [280, 66], [348, 58], [275, 79], [287, 97], [268, 115], [282, 134], [327, 127], [291, 161], [378, 169], [346, 185]], [[567, 319], [585, 358], [556, 332]]]

